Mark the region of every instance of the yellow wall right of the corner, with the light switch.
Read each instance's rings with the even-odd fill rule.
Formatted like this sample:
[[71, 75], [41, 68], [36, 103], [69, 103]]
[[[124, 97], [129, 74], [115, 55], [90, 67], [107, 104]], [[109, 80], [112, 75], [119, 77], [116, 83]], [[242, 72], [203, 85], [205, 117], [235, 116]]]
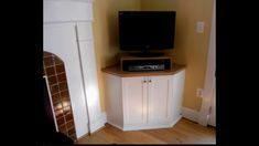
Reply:
[[[176, 10], [173, 62], [186, 64], [183, 105], [199, 111], [202, 98], [196, 88], [204, 87], [213, 0], [142, 0], [144, 10]], [[196, 22], [205, 22], [203, 34], [196, 33]]]

